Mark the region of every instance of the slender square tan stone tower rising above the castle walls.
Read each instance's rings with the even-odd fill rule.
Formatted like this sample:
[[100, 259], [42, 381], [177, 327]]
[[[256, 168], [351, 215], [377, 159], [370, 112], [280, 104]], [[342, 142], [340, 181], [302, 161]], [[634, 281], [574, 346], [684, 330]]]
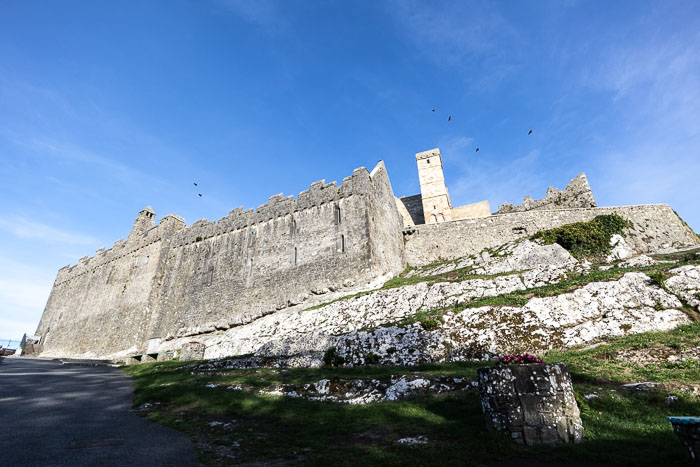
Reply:
[[451, 221], [452, 205], [445, 186], [440, 149], [419, 152], [416, 154], [416, 163], [418, 164], [418, 180], [423, 199], [425, 223], [436, 224]]

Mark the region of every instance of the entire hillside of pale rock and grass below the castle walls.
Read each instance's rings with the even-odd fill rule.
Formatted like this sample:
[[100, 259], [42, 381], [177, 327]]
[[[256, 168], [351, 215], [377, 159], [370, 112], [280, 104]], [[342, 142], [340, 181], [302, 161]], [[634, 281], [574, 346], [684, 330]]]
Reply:
[[[683, 465], [665, 417], [700, 413], [700, 250], [637, 255], [621, 226], [591, 227], [215, 330], [206, 356], [224, 358], [125, 367], [134, 405], [209, 465]], [[569, 365], [581, 444], [486, 431], [476, 369], [507, 352]]]

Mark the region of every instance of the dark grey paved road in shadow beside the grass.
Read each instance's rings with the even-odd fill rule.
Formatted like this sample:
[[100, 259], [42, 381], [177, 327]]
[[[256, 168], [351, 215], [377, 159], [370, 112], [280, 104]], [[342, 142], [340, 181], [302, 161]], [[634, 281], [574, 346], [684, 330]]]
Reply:
[[0, 357], [0, 462], [199, 465], [187, 436], [129, 411], [132, 394], [118, 368]]

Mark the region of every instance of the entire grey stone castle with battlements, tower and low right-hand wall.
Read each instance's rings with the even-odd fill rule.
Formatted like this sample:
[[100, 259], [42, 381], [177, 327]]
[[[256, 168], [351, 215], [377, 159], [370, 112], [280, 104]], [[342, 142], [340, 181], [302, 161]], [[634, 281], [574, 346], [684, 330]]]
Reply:
[[618, 213], [639, 252], [698, 238], [665, 204], [597, 207], [585, 175], [545, 198], [491, 214], [453, 208], [440, 151], [416, 154], [421, 193], [396, 198], [383, 162], [341, 185], [314, 182], [257, 210], [187, 226], [139, 212], [126, 241], [58, 271], [39, 323], [43, 356], [157, 358], [166, 342], [246, 325], [318, 297], [361, 290], [435, 261], [461, 258], [543, 229]]

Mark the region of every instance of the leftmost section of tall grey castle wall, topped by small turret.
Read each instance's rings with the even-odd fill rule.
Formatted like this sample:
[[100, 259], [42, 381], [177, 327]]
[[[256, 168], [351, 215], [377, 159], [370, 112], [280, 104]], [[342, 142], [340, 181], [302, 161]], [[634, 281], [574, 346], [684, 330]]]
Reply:
[[167, 239], [184, 225], [181, 218], [166, 216], [141, 235], [62, 268], [36, 331], [44, 350], [79, 355], [136, 348], [146, 338], [151, 284]]

